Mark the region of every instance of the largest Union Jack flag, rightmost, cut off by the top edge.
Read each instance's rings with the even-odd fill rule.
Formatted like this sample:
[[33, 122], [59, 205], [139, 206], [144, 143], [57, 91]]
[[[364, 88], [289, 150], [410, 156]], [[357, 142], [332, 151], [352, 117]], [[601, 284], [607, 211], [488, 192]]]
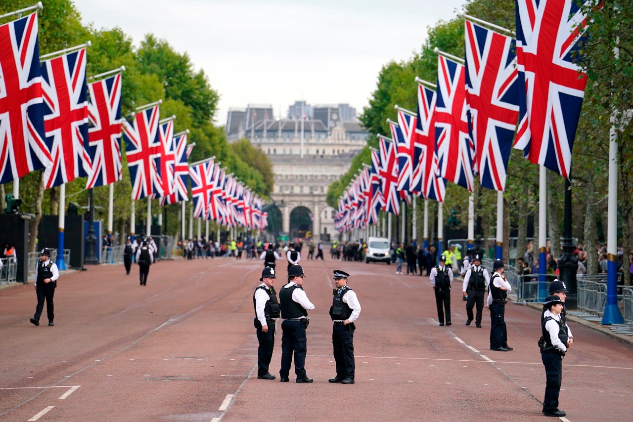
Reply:
[[586, 0], [516, 0], [520, 111], [514, 147], [567, 178], [587, 75], [572, 63]]

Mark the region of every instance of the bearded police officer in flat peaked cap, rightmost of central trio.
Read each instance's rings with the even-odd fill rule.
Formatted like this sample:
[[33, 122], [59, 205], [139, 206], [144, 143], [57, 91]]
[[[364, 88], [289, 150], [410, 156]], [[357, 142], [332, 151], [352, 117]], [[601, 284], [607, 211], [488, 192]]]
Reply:
[[345, 271], [334, 270], [334, 285], [332, 291], [332, 307], [330, 317], [332, 326], [332, 345], [334, 345], [334, 361], [336, 362], [336, 376], [329, 382], [341, 384], [354, 383], [354, 321], [360, 315], [360, 303], [354, 290], [348, 287], [349, 274]]

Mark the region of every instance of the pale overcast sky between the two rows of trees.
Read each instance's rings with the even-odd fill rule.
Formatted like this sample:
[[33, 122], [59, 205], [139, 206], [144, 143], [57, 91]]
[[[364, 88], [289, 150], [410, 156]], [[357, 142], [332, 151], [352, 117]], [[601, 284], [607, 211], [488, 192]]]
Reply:
[[300, 99], [313, 105], [347, 102], [360, 113], [380, 68], [420, 51], [427, 27], [454, 18], [464, 3], [75, 0], [84, 23], [121, 27], [136, 46], [151, 32], [186, 51], [220, 94], [221, 125], [229, 108], [271, 104], [275, 117], [285, 117]]

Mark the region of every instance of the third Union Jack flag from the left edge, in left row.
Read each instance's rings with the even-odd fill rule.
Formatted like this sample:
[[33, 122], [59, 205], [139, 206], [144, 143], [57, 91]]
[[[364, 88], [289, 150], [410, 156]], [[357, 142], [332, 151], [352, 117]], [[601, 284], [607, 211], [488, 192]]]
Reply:
[[92, 175], [86, 189], [105, 186], [122, 178], [121, 73], [88, 84], [88, 139]]

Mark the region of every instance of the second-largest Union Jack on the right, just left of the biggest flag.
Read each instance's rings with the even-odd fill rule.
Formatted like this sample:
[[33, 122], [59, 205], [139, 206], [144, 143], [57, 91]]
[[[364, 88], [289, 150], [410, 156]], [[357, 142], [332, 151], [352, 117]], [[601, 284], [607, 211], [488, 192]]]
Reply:
[[487, 189], [504, 190], [517, 129], [517, 56], [511, 37], [466, 21], [468, 130], [475, 171]]

